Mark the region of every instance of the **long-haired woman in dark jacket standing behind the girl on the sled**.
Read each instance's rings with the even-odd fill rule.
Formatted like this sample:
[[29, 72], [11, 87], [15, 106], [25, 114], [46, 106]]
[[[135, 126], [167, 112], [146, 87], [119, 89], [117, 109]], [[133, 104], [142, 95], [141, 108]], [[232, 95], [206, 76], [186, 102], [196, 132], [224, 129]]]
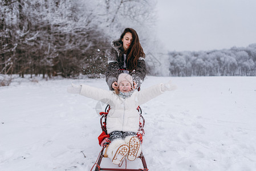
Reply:
[[131, 75], [135, 88], [139, 89], [147, 74], [147, 67], [139, 36], [133, 28], [125, 28], [120, 39], [111, 42], [107, 57], [105, 76], [109, 89], [117, 89], [117, 79], [121, 73]]

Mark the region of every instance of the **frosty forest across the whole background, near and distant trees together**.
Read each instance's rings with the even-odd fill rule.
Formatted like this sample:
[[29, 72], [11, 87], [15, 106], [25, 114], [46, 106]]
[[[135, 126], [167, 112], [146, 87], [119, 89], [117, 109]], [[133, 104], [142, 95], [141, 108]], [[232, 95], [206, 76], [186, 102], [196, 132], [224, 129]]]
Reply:
[[155, 34], [156, 3], [155, 0], [1, 0], [1, 86], [8, 85], [13, 74], [21, 77], [29, 74], [31, 78], [104, 75], [105, 52], [125, 27], [137, 31], [149, 75], [256, 75], [256, 44], [229, 50], [165, 52]]

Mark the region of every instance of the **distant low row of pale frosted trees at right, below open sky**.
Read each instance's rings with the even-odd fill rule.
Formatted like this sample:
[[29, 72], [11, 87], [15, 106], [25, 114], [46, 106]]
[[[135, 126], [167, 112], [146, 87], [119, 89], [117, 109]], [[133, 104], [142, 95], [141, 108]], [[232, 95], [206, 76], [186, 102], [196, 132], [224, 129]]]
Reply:
[[169, 52], [173, 76], [256, 76], [256, 44], [229, 50]]

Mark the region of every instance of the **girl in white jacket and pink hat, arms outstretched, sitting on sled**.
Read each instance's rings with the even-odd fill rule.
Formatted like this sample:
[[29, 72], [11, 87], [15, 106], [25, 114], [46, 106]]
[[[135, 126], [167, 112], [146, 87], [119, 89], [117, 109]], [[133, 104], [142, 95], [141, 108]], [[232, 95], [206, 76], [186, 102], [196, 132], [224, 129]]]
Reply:
[[120, 164], [125, 156], [133, 161], [141, 153], [140, 140], [136, 136], [140, 120], [138, 105], [146, 103], [164, 91], [176, 89], [176, 86], [168, 82], [141, 91], [133, 90], [133, 80], [129, 74], [120, 74], [117, 86], [119, 89], [115, 91], [84, 84], [81, 86], [72, 84], [72, 87], [67, 89], [70, 93], [80, 93], [80, 95], [100, 100], [111, 106], [107, 115], [107, 133], [111, 141], [107, 154], [113, 164]]

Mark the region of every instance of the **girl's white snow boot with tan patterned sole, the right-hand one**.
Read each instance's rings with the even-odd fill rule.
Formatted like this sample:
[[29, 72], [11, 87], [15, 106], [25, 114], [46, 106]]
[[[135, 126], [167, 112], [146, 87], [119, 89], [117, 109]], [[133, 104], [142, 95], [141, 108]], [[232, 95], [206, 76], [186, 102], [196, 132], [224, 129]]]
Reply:
[[140, 140], [135, 136], [128, 136], [124, 139], [125, 143], [129, 146], [127, 158], [130, 161], [135, 160], [141, 153]]

